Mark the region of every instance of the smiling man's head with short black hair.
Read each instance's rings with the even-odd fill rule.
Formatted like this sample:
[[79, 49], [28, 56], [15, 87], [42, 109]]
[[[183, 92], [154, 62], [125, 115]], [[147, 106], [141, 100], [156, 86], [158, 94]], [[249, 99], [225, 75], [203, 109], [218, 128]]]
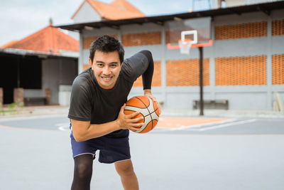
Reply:
[[97, 83], [104, 89], [114, 88], [124, 61], [124, 48], [115, 38], [102, 36], [92, 42], [89, 64]]

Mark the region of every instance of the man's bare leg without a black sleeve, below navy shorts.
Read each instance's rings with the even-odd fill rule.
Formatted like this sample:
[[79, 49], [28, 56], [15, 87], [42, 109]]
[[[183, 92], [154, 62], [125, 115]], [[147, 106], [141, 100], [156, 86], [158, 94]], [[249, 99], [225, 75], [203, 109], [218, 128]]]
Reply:
[[131, 159], [115, 162], [116, 171], [121, 177], [124, 190], [138, 190], [138, 180], [133, 170]]

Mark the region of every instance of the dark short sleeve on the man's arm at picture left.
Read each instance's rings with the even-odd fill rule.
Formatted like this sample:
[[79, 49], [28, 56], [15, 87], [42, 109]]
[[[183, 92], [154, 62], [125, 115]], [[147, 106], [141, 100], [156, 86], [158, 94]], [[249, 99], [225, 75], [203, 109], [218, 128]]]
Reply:
[[72, 85], [68, 117], [72, 120], [90, 121], [92, 112], [91, 92], [82, 78], [76, 78]]

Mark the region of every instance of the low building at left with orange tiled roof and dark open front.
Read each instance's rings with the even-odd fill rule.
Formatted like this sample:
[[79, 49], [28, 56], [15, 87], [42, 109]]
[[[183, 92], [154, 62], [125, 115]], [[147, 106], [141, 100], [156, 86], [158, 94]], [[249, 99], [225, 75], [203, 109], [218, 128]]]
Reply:
[[68, 105], [78, 51], [79, 42], [52, 23], [21, 41], [1, 46], [1, 103]]

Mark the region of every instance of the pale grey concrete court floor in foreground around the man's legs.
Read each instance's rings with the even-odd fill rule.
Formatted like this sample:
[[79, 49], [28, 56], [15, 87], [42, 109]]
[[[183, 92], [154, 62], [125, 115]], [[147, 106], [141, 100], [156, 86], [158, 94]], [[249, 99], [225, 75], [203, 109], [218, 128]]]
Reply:
[[[283, 134], [131, 132], [140, 189], [283, 189]], [[70, 189], [69, 132], [0, 127], [0, 189]], [[122, 189], [113, 164], [94, 161], [91, 189]]]

